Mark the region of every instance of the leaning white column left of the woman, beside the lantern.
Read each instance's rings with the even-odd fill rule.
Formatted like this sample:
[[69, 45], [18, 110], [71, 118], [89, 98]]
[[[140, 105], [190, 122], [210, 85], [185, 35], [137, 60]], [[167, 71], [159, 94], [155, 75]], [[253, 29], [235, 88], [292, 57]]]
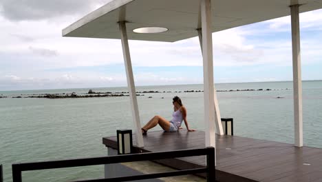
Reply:
[[141, 132], [140, 115], [138, 112], [138, 101], [136, 100], [136, 87], [134, 85], [131, 56], [129, 52], [129, 41], [127, 39], [127, 28], [125, 26], [125, 21], [121, 21], [119, 23], [119, 27], [121, 32], [125, 70], [127, 72], [127, 87], [129, 88], [129, 97], [131, 101], [133, 123], [136, 127], [136, 141], [137, 141], [138, 147], [143, 147], [144, 143], [143, 143], [143, 137]]

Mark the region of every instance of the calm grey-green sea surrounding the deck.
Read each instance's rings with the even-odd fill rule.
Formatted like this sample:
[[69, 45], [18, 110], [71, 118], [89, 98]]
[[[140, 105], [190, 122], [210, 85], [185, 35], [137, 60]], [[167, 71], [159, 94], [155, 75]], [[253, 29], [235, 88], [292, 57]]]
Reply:
[[[303, 81], [303, 143], [322, 148], [322, 81]], [[234, 119], [234, 134], [294, 143], [292, 81], [215, 84], [221, 117]], [[127, 88], [0, 91], [0, 164], [12, 181], [12, 163], [107, 156], [102, 143], [116, 130], [133, 129], [129, 97], [24, 98], [37, 94], [127, 92]], [[185, 91], [194, 92], [185, 92]], [[187, 109], [190, 128], [204, 130], [203, 85], [137, 86], [141, 124], [171, 119], [172, 98]], [[220, 92], [219, 92], [220, 91]], [[13, 98], [22, 97], [22, 98]], [[155, 127], [153, 130], [161, 130]], [[104, 176], [103, 165], [23, 172], [23, 181], [76, 181]]]

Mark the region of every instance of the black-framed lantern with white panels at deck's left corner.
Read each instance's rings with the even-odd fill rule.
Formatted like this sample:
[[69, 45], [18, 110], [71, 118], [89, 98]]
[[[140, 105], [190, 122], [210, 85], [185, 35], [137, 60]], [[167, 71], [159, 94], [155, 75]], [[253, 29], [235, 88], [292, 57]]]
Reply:
[[118, 154], [131, 154], [132, 152], [132, 130], [116, 130], [118, 138]]

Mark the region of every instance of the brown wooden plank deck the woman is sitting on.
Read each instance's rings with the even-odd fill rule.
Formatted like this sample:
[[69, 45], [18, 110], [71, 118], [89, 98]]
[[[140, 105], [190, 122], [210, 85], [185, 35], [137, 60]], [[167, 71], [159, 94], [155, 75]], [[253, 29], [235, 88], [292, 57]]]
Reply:
[[[160, 152], [204, 148], [204, 132], [148, 132], [144, 148], [137, 152]], [[133, 136], [133, 145], [136, 144]], [[103, 138], [103, 144], [117, 148], [116, 136]], [[239, 136], [217, 136], [217, 181], [322, 181], [322, 149], [296, 148]], [[159, 161], [177, 169], [195, 168], [205, 164], [204, 156]], [[310, 163], [310, 165], [303, 165]]]

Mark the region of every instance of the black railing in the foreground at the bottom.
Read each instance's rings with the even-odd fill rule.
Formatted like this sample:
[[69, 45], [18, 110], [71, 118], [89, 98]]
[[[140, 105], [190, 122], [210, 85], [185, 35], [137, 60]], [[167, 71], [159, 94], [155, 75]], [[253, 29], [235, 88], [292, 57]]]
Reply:
[[[173, 159], [177, 157], [186, 156], [202, 156], [206, 155], [206, 167], [205, 168], [194, 168], [189, 170], [177, 170], [173, 172], [161, 172], [153, 174], [142, 174], [136, 176], [121, 176], [108, 179], [92, 179], [82, 182], [98, 182], [98, 181], [133, 181], [142, 179], [155, 179], [168, 176], [181, 176], [186, 174], [207, 174], [207, 181], [215, 181], [215, 148], [200, 148], [192, 150], [175, 150], [169, 152], [148, 152], [140, 154], [125, 154], [117, 156], [104, 156], [89, 159], [72, 159], [64, 161], [47, 161], [37, 163], [17, 163], [12, 165], [12, 179], [13, 182], [21, 182], [21, 172], [31, 170], [47, 170], [54, 168], [72, 168], [87, 165], [103, 165], [110, 163], [126, 163], [133, 161], [152, 161], [158, 159]], [[78, 181], [81, 182], [81, 181]]]

